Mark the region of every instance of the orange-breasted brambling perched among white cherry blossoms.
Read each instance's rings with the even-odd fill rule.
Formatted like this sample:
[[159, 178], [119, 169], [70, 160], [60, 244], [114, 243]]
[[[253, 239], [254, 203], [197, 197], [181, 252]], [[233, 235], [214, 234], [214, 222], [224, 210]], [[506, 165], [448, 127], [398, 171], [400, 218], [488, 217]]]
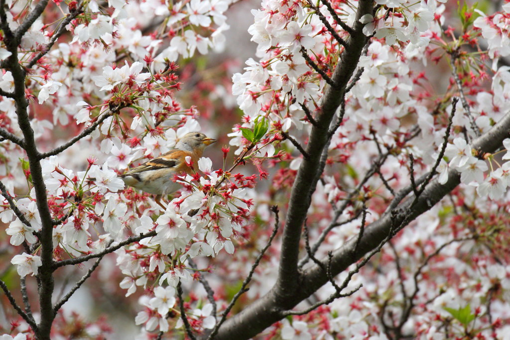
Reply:
[[190, 132], [175, 144], [173, 150], [127, 171], [120, 175], [120, 178], [130, 187], [156, 194], [156, 203], [166, 210], [161, 204], [161, 197], [182, 188], [179, 183], [172, 181], [173, 176], [183, 171], [192, 173], [192, 169], [186, 164], [186, 157], [190, 156], [193, 164], [196, 164], [202, 156], [203, 149], [214, 142], [215, 139], [202, 133]]

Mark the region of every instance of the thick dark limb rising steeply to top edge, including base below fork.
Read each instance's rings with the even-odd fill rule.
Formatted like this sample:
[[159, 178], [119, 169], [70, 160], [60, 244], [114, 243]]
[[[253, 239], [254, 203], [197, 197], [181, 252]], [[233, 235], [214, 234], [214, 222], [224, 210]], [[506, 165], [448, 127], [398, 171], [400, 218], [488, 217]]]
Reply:
[[[363, 24], [359, 20], [363, 15], [371, 14], [372, 10], [373, 1], [359, 1], [353, 32], [346, 41], [347, 47], [331, 76], [336, 86], [326, 88], [320, 112], [315, 118], [316, 124], [312, 126], [309, 143], [305, 150], [310, 154], [310, 158], [303, 159], [291, 191], [277, 282], [265, 297], [227, 320], [218, 331], [216, 336], [218, 339], [249, 338], [281, 319], [281, 311], [292, 309], [296, 304], [295, 295], [302, 290], [297, 267], [301, 228], [307, 216], [312, 193], [315, 191], [317, 184], [315, 179], [318, 180], [320, 177], [317, 165], [323, 156], [322, 151], [330, 140], [328, 135], [330, 125], [334, 124], [333, 118], [340, 107], [345, 88], [358, 65], [367, 41], [367, 37], [362, 32]], [[314, 180], [311, 181], [311, 178]]]

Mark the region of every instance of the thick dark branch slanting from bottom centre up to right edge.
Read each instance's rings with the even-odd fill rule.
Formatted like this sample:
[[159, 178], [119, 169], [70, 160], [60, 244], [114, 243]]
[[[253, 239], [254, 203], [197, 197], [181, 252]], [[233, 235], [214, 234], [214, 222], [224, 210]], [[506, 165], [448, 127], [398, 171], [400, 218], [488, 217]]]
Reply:
[[[507, 114], [489, 132], [477, 138], [471, 147], [480, 152], [494, 152], [501, 147], [503, 139], [508, 137], [509, 130], [510, 114]], [[416, 184], [419, 186], [427, 176], [428, 174], [421, 176], [416, 180]], [[398, 231], [392, 230], [393, 226], [398, 226], [398, 229], [401, 229], [406, 223], [411, 222], [438, 203], [458, 184], [460, 184], [460, 174], [455, 170], [450, 170], [448, 181], [441, 185], [437, 180], [432, 180], [412, 208], [411, 205], [414, 199], [410, 198], [402, 202], [405, 196], [412, 192], [412, 189], [404, 188], [402, 192], [397, 193], [397, 197], [392, 202], [393, 208], [388, 209], [379, 220], [365, 228], [356, 250], [358, 238], [353, 237], [333, 252], [331, 275], [337, 275], [356, 263], [366, 253], [377, 250], [381, 244], [384, 244], [393, 236], [394, 232]], [[323, 266], [327, 266], [328, 259], [322, 259], [321, 263]], [[295, 280], [296, 277], [293, 279]], [[228, 319], [220, 328], [216, 339], [245, 339], [259, 333], [264, 328], [280, 320], [283, 311], [292, 309], [299, 302], [307, 299], [327, 281], [328, 279], [322, 268], [313, 265], [301, 275], [301, 279], [298, 281], [299, 289], [290, 291], [288, 295], [282, 297], [278, 287], [274, 286], [265, 296], [244, 308], [238, 315]]]

